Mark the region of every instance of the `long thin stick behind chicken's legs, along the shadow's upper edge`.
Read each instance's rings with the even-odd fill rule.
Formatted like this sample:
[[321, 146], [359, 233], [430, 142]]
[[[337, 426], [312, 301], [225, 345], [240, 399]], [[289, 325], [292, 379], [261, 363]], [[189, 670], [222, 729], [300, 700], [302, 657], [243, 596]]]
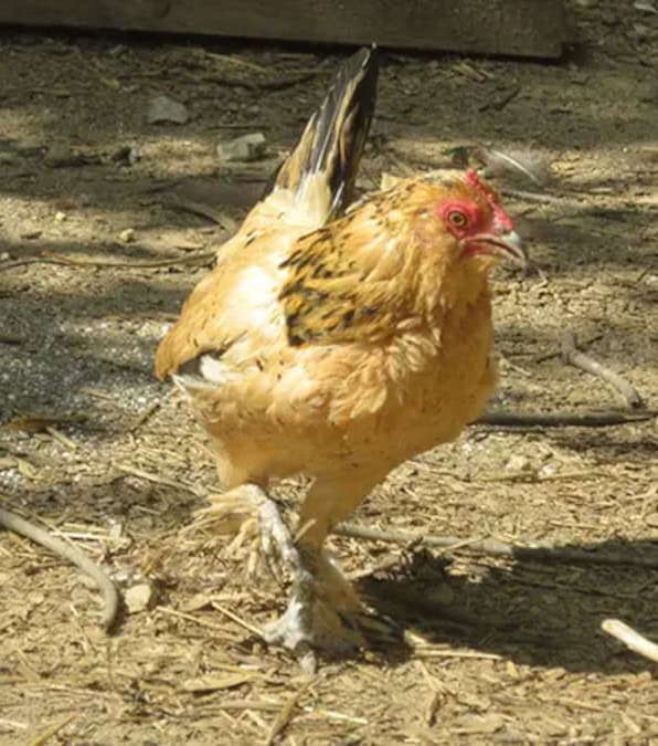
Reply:
[[[646, 567], [658, 569], [658, 551], [629, 556], [620, 551], [603, 551], [597, 549], [576, 549], [572, 547], [558, 547], [551, 543], [535, 543], [527, 546], [514, 546], [495, 539], [485, 539], [473, 544], [464, 544], [457, 536], [433, 536], [415, 534], [407, 530], [383, 530], [371, 526], [359, 526], [343, 523], [333, 530], [339, 536], [362, 538], [372, 542], [388, 542], [390, 544], [410, 544], [417, 542], [426, 547], [438, 547], [448, 550], [473, 551], [491, 557], [511, 557], [513, 559], [527, 559], [535, 561], [561, 561], [577, 563], [583, 565], [627, 565], [630, 567]], [[649, 545], [647, 545], [649, 546]]]

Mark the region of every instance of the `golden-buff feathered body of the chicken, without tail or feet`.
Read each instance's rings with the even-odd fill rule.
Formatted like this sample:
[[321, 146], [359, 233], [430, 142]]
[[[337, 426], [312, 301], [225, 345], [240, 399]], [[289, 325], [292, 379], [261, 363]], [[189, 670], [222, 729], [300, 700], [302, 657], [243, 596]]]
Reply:
[[508, 219], [473, 178], [401, 181], [333, 219], [298, 197], [298, 183], [275, 188], [254, 208], [161, 343], [157, 371], [190, 393], [224, 488], [312, 477], [298, 546], [328, 577], [319, 553], [332, 526], [394, 466], [454, 440], [495, 385], [494, 260], [466, 258], [437, 206]]

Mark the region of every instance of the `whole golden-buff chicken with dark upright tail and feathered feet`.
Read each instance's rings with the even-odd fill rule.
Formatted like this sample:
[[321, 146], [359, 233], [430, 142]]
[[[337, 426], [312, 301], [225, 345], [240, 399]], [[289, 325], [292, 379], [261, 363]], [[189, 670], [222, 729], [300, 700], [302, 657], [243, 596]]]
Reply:
[[[325, 539], [392, 469], [481, 412], [496, 382], [488, 275], [524, 259], [475, 171], [350, 206], [375, 80], [374, 50], [347, 62], [156, 360], [210, 435], [225, 490], [212, 509], [257, 514], [263, 549], [290, 569], [266, 639], [300, 654], [362, 642], [363, 606]], [[295, 474], [311, 483], [293, 540], [267, 493]]]

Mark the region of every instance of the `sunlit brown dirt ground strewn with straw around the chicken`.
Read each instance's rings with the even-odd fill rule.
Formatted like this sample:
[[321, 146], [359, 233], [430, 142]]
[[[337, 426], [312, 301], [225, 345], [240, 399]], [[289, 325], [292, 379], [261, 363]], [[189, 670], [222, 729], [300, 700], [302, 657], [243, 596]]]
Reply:
[[[545, 158], [546, 188], [499, 180], [535, 269], [496, 277], [492, 404], [627, 411], [561, 359], [572, 330], [656, 410], [658, 14], [572, 11], [579, 41], [559, 64], [391, 54], [361, 186], [477, 141]], [[402, 465], [354, 521], [466, 546], [335, 537], [406, 644], [326, 661], [310, 682], [224, 611], [258, 624], [285, 595], [246, 580], [230, 539], [185, 530], [214, 473], [151, 375], [155, 348], [343, 54], [0, 35], [0, 505], [130, 598], [108, 637], [93, 585], [0, 534], [1, 744], [658, 744], [658, 668], [599, 629], [618, 618], [658, 640], [655, 419], [474, 427]], [[161, 93], [187, 124], [147, 123]], [[219, 162], [217, 143], [252, 132], [265, 159]], [[469, 550], [485, 538], [592, 559]]]

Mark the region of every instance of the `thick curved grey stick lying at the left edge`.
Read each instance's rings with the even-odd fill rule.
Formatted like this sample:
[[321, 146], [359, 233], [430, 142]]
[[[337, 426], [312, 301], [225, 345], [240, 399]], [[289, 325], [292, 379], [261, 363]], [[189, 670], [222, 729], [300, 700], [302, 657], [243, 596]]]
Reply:
[[102, 624], [109, 632], [116, 623], [117, 616], [120, 608], [120, 596], [117, 587], [109, 579], [106, 572], [84, 555], [79, 549], [71, 544], [66, 544], [61, 539], [54, 537], [47, 530], [40, 526], [25, 521], [22, 516], [0, 507], [0, 526], [8, 530], [20, 534], [25, 538], [39, 544], [46, 549], [50, 549], [57, 557], [72, 563], [78, 567], [85, 575], [87, 575], [100, 591], [103, 601], [105, 603], [105, 611], [103, 613]]

